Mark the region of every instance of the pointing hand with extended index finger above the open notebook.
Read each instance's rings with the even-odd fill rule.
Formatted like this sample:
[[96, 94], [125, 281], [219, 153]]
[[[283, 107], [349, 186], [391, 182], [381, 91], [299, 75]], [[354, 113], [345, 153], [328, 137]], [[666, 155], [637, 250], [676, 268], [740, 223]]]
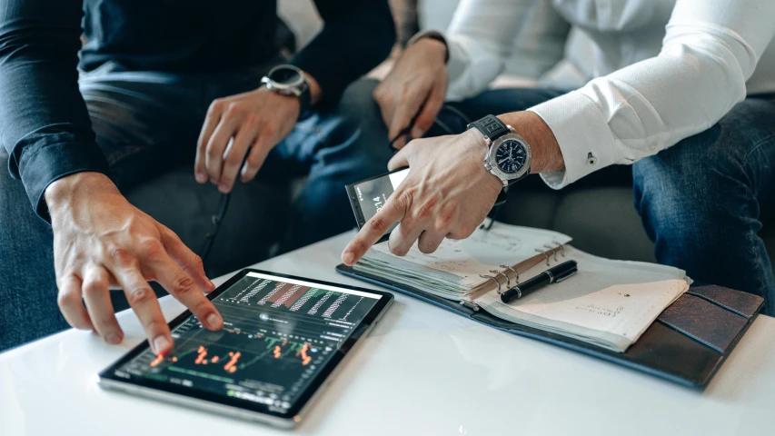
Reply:
[[389, 246], [399, 256], [418, 239], [422, 253], [433, 253], [444, 238], [470, 236], [503, 188], [501, 180], [484, 169], [485, 152], [482, 134], [474, 129], [407, 144], [388, 167], [409, 165], [409, 175], [347, 245], [343, 263], [358, 262], [396, 222], [400, 224], [393, 229]]

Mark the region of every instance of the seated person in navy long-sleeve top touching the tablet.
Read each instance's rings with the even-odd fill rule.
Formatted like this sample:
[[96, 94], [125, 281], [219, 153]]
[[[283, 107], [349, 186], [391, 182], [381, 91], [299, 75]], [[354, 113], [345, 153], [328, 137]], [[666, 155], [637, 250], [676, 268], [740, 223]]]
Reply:
[[[108, 290], [120, 287], [167, 352], [149, 280], [221, 327], [201, 259], [122, 195], [174, 167], [222, 193], [259, 171], [306, 175], [285, 249], [351, 227], [343, 184], [390, 153], [356, 149], [359, 111], [337, 102], [395, 29], [386, 0], [315, 4], [325, 26], [286, 64], [275, 2], [0, 1], [0, 139], [21, 179], [0, 176], [0, 351], [67, 324], [121, 342]], [[262, 85], [302, 74], [284, 94]]]

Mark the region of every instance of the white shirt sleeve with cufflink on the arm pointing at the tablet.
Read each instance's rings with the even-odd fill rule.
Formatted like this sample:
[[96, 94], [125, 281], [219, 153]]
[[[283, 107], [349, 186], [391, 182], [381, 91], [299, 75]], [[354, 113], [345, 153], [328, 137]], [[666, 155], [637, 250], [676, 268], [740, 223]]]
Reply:
[[706, 130], [745, 98], [775, 34], [775, 3], [682, 0], [661, 53], [530, 109], [549, 125], [565, 171], [554, 188], [614, 163], [634, 163]]

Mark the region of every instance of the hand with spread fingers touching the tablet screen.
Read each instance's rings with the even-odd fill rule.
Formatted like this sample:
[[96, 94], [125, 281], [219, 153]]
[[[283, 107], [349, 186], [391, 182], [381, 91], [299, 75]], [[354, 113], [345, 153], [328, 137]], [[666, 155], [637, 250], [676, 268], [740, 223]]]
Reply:
[[105, 342], [121, 342], [124, 332], [108, 290], [120, 287], [154, 352], [170, 352], [170, 329], [148, 285], [154, 280], [207, 329], [223, 326], [221, 315], [201, 292], [214, 289], [202, 260], [170, 229], [127, 202], [104, 174], [63, 177], [46, 189], [45, 201], [54, 230], [59, 307], [70, 325], [94, 330]]

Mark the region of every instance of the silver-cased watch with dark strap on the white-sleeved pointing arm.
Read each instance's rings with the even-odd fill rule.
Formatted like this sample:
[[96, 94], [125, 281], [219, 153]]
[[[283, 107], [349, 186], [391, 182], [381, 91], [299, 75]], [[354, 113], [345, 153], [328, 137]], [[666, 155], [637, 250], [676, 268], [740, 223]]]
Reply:
[[484, 168], [501, 179], [503, 187], [516, 183], [530, 173], [530, 145], [514, 132], [511, 125], [503, 124], [496, 116], [487, 115], [468, 124], [484, 135], [487, 154]]

